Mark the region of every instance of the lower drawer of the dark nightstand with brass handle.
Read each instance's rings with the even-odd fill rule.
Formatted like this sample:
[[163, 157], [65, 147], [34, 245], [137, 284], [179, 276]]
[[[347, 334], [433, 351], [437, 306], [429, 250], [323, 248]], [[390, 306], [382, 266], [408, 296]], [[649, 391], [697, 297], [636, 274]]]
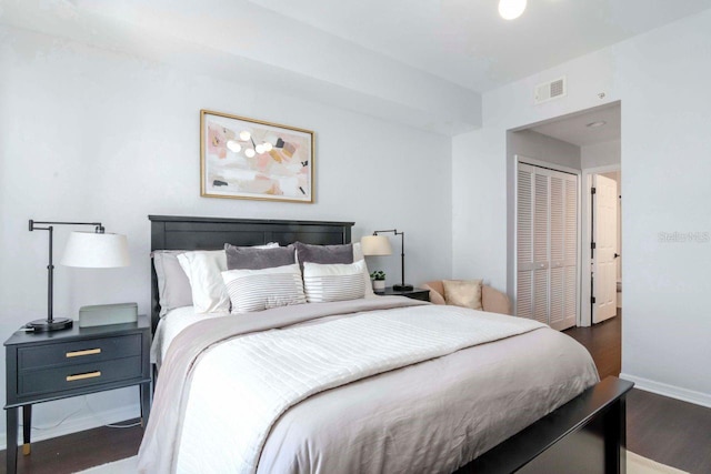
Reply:
[[139, 379], [141, 375], [140, 355], [103, 362], [21, 371], [18, 375], [18, 396], [43, 393], [57, 394], [78, 387]]

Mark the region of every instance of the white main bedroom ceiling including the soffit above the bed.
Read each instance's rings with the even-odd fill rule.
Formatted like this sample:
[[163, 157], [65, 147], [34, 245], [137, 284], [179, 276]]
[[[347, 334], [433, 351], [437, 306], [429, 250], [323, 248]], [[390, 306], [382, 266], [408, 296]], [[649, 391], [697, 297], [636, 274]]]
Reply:
[[455, 135], [481, 127], [482, 92], [711, 9], [711, 0], [529, 0], [507, 21], [497, 4], [0, 0], [0, 27]]

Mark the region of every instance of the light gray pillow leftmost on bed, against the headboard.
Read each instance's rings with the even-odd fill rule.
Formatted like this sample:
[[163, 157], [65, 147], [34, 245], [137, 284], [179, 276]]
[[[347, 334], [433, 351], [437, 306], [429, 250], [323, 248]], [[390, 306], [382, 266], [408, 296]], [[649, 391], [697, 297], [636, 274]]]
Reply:
[[178, 262], [178, 254], [186, 250], [157, 250], [151, 253], [158, 276], [160, 316], [176, 307], [192, 306], [190, 280]]

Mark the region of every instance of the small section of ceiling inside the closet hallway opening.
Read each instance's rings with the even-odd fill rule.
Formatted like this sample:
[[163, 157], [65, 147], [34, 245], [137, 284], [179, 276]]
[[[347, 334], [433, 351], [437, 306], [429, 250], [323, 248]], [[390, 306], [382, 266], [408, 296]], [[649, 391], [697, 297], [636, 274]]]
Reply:
[[[602, 124], [600, 127], [588, 127], [590, 123]], [[530, 127], [528, 130], [532, 130], [578, 147], [620, 140], [620, 103], [617, 102], [561, 117], [559, 119]]]

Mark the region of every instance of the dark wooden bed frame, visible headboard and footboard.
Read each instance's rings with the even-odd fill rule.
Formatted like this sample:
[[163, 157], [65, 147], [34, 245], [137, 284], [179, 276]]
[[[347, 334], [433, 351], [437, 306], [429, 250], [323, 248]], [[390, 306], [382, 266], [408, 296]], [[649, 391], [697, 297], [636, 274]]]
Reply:
[[[351, 241], [353, 222], [149, 215], [151, 251]], [[158, 325], [158, 281], [151, 265], [151, 322]], [[607, 377], [457, 471], [464, 473], [625, 473], [625, 396], [633, 384]]]

